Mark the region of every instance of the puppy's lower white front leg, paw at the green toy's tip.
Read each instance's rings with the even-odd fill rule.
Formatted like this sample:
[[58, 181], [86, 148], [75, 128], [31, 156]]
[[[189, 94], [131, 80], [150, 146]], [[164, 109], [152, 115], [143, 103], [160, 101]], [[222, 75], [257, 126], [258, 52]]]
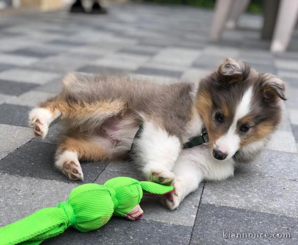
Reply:
[[204, 157], [194, 148], [183, 150], [173, 169], [176, 175], [174, 191], [162, 197], [162, 204], [171, 210], [176, 209], [189, 193], [195, 191], [203, 179], [204, 163]]

